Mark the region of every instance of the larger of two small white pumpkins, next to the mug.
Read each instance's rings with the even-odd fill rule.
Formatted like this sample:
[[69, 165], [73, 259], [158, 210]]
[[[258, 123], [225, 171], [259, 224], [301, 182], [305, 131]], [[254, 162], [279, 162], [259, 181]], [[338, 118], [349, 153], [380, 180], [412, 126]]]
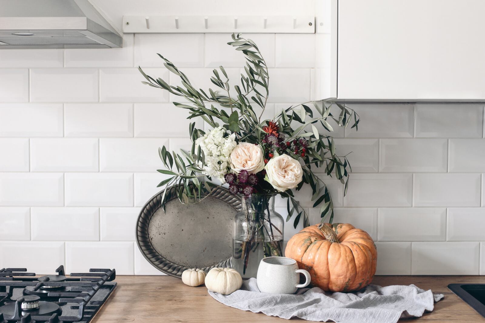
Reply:
[[206, 287], [212, 292], [229, 295], [242, 286], [242, 277], [232, 268], [212, 268], [206, 277]]

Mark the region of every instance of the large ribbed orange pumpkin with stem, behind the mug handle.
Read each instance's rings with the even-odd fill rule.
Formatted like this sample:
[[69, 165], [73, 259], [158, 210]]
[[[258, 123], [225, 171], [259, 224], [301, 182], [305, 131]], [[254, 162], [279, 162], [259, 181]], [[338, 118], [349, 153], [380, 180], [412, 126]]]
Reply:
[[306, 269], [324, 291], [351, 292], [369, 284], [377, 265], [371, 236], [348, 223], [320, 223], [296, 233], [285, 256]]

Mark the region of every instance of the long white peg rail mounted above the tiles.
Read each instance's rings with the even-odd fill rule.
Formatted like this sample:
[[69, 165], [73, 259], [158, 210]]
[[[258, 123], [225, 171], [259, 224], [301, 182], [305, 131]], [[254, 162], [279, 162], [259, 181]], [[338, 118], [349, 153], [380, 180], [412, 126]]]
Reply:
[[305, 16], [123, 16], [124, 33], [315, 33], [315, 17]]

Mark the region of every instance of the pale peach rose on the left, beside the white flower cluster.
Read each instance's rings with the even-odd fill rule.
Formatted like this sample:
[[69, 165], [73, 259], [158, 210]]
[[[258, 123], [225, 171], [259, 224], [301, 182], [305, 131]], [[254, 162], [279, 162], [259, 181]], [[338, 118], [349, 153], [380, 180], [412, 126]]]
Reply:
[[231, 169], [236, 173], [247, 170], [250, 174], [256, 174], [264, 169], [264, 153], [259, 145], [249, 142], [241, 142], [231, 152]]

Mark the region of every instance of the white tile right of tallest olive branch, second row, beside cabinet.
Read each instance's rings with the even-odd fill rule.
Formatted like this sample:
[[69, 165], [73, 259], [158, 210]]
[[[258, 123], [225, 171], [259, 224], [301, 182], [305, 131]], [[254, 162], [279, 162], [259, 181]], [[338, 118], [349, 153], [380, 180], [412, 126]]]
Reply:
[[270, 68], [268, 102], [307, 102], [310, 100], [310, 70]]

